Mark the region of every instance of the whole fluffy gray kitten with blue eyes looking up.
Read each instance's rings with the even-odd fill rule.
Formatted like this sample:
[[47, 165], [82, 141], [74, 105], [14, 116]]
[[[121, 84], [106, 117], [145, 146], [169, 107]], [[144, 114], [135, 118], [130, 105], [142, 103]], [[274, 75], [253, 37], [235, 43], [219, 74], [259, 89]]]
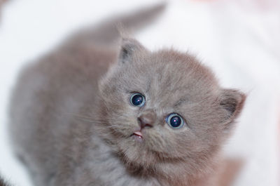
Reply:
[[[145, 25], [163, 8], [121, 21]], [[131, 38], [116, 47], [113, 22], [20, 74], [10, 131], [34, 184], [214, 184], [219, 149], [246, 96], [221, 88], [188, 53], [152, 53]]]

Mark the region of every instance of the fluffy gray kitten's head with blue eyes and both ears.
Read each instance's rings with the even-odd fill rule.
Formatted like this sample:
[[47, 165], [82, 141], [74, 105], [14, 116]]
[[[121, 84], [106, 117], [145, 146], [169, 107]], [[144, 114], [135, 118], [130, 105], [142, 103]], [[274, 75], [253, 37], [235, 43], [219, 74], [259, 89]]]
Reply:
[[134, 39], [123, 39], [99, 89], [111, 142], [125, 162], [144, 167], [212, 157], [245, 100], [192, 56], [152, 53]]

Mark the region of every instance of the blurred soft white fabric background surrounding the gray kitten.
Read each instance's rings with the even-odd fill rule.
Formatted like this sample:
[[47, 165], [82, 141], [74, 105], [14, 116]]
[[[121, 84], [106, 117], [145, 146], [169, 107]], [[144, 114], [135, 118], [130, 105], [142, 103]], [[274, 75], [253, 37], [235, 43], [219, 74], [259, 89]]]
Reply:
[[[0, 24], [0, 172], [29, 186], [10, 152], [7, 107], [18, 70], [83, 25], [155, 4], [151, 0], [10, 0]], [[234, 185], [279, 186], [280, 6], [276, 0], [169, 1], [165, 14], [136, 34], [145, 46], [190, 51], [225, 87], [248, 93], [225, 154], [245, 164]]]

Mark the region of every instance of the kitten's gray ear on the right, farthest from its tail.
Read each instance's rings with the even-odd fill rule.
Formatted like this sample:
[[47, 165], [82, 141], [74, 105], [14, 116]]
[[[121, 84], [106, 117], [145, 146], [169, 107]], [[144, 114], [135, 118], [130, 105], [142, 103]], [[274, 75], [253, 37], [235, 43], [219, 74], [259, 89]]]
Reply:
[[228, 124], [239, 116], [245, 100], [246, 95], [244, 93], [234, 89], [222, 90], [220, 105], [225, 111], [225, 120]]

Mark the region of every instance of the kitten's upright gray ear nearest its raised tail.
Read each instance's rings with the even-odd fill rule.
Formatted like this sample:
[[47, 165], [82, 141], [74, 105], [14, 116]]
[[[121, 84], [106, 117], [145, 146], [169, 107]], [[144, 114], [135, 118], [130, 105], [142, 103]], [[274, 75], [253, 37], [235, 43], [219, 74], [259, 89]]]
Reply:
[[130, 38], [123, 38], [120, 47], [119, 61], [122, 63], [130, 62], [133, 55], [140, 51], [146, 51], [146, 48], [142, 46], [139, 41]]

